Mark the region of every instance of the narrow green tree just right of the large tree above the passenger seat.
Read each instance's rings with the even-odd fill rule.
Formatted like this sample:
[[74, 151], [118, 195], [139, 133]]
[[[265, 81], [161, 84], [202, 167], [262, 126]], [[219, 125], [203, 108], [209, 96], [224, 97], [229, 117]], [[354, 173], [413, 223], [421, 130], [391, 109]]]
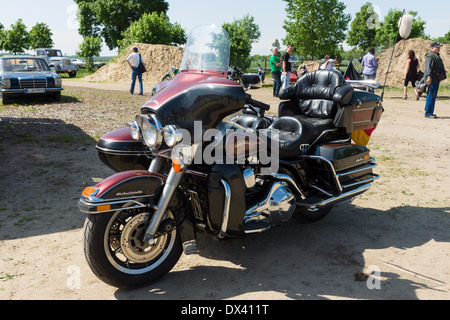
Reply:
[[376, 45], [375, 35], [377, 29], [380, 28], [379, 19], [378, 14], [373, 11], [372, 4], [370, 2], [364, 4], [351, 23], [347, 43], [364, 50], [374, 47]]

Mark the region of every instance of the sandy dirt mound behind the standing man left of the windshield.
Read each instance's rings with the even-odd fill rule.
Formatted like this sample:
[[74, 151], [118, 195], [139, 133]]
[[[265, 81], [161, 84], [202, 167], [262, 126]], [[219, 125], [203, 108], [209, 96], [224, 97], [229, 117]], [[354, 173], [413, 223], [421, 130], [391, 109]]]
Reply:
[[87, 81], [130, 82], [131, 69], [126, 58], [133, 52], [133, 47], [139, 49], [139, 53], [142, 55], [142, 59], [147, 67], [147, 72], [142, 76], [144, 83], [147, 84], [160, 82], [172, 66], [172, 63], [179, 67], [184, 52], [184, 49], [180, 47], [134, 43], [113, 58], [106, 66], [83, 79]]

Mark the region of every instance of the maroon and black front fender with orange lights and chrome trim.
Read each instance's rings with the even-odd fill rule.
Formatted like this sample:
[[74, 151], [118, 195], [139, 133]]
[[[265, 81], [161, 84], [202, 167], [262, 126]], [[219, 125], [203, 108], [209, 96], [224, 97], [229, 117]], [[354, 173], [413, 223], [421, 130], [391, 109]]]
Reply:
[[88, 214], [113, 212], [127, 205], [128, 209], [154, 205], [153, 200], [165, 183], [165, 176], [133, 170], [114, 174], [93, 187], [87, 187], [78, 201], [78, 208]]

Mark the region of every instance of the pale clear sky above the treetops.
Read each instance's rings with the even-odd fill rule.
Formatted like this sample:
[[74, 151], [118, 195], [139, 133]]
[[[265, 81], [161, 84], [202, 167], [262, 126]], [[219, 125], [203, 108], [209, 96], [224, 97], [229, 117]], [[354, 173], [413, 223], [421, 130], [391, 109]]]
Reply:
[[[178, 22], [187, 33], [201, 24], [222, 25], [232, 22], [246, 14], [255, 18], [261, 37], [253, 44], [252, 54], [270, 54], [275, 39], [282, 39], [286, 32], [283, 21], [286, 19], [283, 0], [166, 0], [169, 3], [167, 15], [172, 23]], [[427, 5], [423, 0], [340, 0], [347, 6], [345, 13], [356, 12], [366, 2], [371, 2], [381, 18], [389, 9], [417, 11], [418, 16], [426, 21], [425, 33], [432, 38], [440, 37], [450, 30], [450, 1], [433, 0]], [[10, 29], [19, 18], [28, 27], [28, 31], [37, 22], [46, 23], [53, 32], [55, 48], [66, 55], [74, 55], [82, 37], [77, 32], [76, 4], [73, 0], [20, 0], [20, 7], [14, 1], [0, 0], [0, 23]], [[282, 45], [282, 49], [283, 45]], [[348, 47], [344, 44], [344, 49]], [[102, 56], [114, 56], [117, 50], [110, 51], [103, 44]]]

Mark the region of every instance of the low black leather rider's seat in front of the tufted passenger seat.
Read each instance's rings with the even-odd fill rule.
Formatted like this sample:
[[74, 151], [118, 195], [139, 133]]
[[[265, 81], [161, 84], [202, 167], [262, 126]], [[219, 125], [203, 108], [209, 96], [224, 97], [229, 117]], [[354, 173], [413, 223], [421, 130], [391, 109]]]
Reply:
[[[308, 118], [300, 115], [278, 118], [264, 133], [268, 139], [277, 140], [280, 157], [296, 158], [308, 150], [323, 131], [333, 127], [332, 119]], [[273, 129], [279, 130], [278, 136]], [[270, 140], [267, 143], [270, 147]]]

